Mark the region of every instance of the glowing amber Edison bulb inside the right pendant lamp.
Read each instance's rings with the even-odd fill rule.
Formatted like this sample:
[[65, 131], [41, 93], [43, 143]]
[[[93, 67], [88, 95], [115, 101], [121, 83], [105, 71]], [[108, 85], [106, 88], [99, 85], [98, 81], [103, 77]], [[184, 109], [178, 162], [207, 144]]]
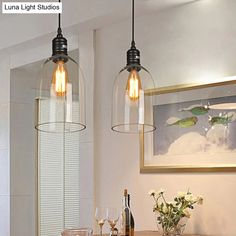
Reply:
[[138, 71], [133, 69], [130, 71], [129, 78], [126, 85], [126, 91], [130, 100], [136, 101], [139, 99], [139, 91], [142, 89]]

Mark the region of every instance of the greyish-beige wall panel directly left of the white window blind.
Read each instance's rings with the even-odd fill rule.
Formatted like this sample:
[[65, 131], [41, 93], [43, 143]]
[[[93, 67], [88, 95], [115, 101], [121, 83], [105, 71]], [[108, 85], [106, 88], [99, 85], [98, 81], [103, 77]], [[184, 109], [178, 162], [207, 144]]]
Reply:
[[36, 232], [36, 136], [34, 84], [36, 75], [11, 70], [10, 86], [10, 235]]

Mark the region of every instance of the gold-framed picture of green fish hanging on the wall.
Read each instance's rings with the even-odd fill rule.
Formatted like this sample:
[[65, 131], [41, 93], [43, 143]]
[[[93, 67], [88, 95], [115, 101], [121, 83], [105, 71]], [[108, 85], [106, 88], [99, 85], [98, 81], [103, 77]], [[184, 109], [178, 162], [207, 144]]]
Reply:
[[141, 173], [236, 171], [236, 80], [147, 94], [157, 129], [140, 134]]

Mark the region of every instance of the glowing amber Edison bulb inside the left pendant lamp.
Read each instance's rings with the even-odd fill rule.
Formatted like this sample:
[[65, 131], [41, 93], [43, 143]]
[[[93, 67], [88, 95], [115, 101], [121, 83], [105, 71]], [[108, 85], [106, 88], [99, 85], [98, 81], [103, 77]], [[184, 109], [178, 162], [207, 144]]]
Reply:
[[66, 65], [63, 61], [58, 61], [55, 65], [52, 76], [52, 85], [56, 96], [62, 97], [66, 95], [67, 83], [68, 72]]

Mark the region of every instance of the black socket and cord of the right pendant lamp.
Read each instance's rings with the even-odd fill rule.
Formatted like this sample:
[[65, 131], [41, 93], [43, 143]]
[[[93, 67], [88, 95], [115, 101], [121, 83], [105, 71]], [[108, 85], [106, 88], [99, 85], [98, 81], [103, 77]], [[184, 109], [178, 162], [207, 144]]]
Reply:
[[[140, 66], [140, 51], [136, 48], [135, 41], [134, 41], [134, 0], [132, 0], [131, 28], [132, 28], [132, 39], [131, 39], [131, 47], [127, 51], [127, 66], [132, 66], [132, 65]], [[139, 67], [136, 69], [140, 70]], [[131, 69], [129, 68], [128, 70], [131, 70]]]

